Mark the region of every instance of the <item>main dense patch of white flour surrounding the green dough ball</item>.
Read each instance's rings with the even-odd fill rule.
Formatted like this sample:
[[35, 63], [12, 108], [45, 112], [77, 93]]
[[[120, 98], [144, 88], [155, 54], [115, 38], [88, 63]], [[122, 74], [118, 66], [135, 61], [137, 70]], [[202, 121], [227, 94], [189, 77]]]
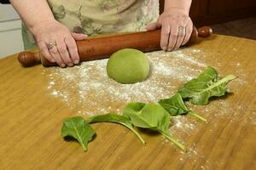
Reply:
[[190, 54], [183, 51], [186, 50], [148, 53], [151, 73], [144, 82], [115, 82], [106, 71], [108, 59], [101, 59], [67, 69], [52, 68], [48, 88], [55, 97], [85, 115], [120, 113], [122, 107], [117, 107], [117, 103], [124, 106], [131, 101], [157, 102], [168, 98], [175, 93], [177, 83], [187, 82], [204, 70], [207, 65], [192, 56], [200, 53], [199, 49]]

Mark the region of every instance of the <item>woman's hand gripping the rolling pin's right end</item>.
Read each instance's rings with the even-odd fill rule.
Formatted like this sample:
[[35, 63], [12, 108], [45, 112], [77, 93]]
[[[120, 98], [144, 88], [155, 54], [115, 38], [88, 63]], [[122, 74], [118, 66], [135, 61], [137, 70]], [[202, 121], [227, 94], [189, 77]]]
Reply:
[[161, 27], [160, 47], [165, 51], [177, 50], [189, 41], [193, 23], [189, 15], [180, 8], [166, 9], [160, 18], [147, 26], [147, 30]]

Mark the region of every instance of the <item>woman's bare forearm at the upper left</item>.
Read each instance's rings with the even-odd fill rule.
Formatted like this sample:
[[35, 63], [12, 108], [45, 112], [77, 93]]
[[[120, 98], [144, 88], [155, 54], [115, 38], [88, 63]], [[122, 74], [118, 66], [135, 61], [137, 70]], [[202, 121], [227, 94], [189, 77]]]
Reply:
[[10, 0], [29, 30], [38, 23], [55, 20], [47, 0]]

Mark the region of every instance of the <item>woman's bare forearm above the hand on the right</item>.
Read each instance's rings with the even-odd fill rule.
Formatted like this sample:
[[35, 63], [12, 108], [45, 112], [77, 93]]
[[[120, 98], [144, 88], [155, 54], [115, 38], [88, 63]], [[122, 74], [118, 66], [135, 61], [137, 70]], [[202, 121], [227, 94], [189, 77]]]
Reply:
[[165, 0], [165, 11], [177, 9], [189, 14], [192, 0]]

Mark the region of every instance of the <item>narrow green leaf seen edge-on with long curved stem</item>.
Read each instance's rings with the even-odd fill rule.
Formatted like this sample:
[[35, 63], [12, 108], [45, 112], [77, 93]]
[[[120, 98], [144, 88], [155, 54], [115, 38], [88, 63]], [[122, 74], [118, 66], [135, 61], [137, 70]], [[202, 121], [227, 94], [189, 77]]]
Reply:
[[124, 125], [125, 127], [129, 128], [133, 133], [137, 135], [137, 138], [141, 140], [143, 144], [146, 144], [143, 138], [137, 131], [132, 127], [130, 119], [128, 119], [125, 116], [119, 116], [114, 113], [109, 113], [106, 115], [97, 115], [97, 116], [91, 116], [89, 118], [89, 123], [94, 123], [94, 122], [116, 122], [121, 125]]

